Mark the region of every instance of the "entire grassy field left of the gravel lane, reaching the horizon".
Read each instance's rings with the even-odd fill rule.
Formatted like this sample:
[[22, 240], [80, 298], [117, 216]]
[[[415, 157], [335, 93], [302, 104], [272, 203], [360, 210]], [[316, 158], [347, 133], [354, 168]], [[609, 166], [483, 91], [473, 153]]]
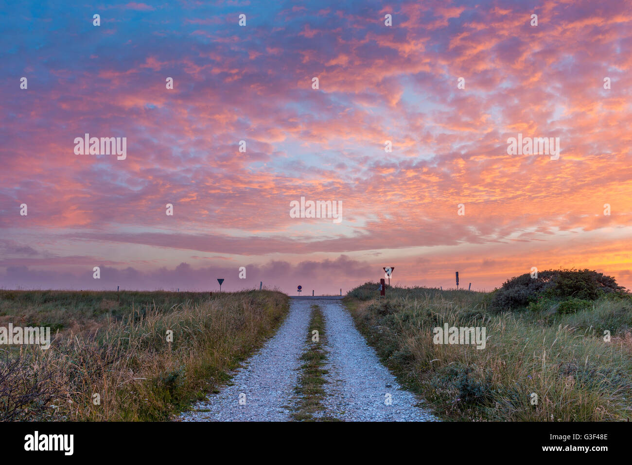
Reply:
[[273, 291], [109, 294], [0, 292], [0, 326], [61, 325], [46, 351], [0, 346], [0, 419], [168, 420], [226, 380], [288, 311]]

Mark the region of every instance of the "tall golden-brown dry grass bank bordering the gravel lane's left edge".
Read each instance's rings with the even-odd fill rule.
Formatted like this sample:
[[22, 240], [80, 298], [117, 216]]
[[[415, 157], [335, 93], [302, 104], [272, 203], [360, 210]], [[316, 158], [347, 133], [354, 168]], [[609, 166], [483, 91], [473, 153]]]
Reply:
[[[8, 381], [20, 385], [46, 367], [40, 370], [44, 387], [54, 392], [27, 402], [13, 419], [168, 420], [226, 380], [273, 334], [287, 310], [288, 298], [278, 292], [222, 293], [171, 308], [132, 308], [120, 318], [107, 316], [92, 334], [58, 334], [46, 351], [29, 347], [5, 356], [4, 367], [7, 360], [20, 360]], [[23, 387], [11, 398], [0, 397], [0, 415], [3, 406], [9, 411], [22, 402], [28, 394], [28, 385]]]

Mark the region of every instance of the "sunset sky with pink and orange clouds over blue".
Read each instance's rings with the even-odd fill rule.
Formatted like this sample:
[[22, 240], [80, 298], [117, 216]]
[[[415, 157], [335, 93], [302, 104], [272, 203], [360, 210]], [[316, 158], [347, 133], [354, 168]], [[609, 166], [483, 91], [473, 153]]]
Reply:
[[0, 45], [1, 288], [632, 287], [631, 0], [7, 1]]

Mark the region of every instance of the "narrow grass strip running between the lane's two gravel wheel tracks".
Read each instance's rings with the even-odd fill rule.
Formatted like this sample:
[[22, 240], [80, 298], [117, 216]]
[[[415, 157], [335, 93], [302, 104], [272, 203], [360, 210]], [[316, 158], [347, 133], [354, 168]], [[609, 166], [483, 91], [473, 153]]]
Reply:
[[[322, 385], [327, 382], [324, 378], [327, 370], [323, 368], [327, 360], [327, 351], [322, 346], [325, 337], [325, 322], [322, 310], [318, 305], [312, 305], [309, 330], [307, 335], [309, 347], [301, 356], [304, 363], [301, 366], [301, 375], [295, 390], [300, 397], [292, 418], [297, 421], [331, 420], [313, 417], [314, 413], [324, 409], [322, 401], [325, 397], [325, 391]], [[314, 331], [318, 331], [316, 341]]]

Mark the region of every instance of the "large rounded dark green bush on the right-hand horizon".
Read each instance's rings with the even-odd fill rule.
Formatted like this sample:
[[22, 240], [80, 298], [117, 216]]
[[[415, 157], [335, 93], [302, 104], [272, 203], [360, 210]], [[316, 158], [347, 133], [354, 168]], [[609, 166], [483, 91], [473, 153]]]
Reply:
[[[537, 277], [529, 273], [513, 277], [497, 289], [491, 301], [496, 311], [516, 310], [529, 306], [537, 310], [548, 303], [564, 302], [569, 299], [594, 301], [604, 295], [622, 296], [626, 289], [619, 286], [611, 276], [593, 270], [545, 270]], [[578, 301], [561, 305], [562, 313], [576, 311], [581, 307]]]

